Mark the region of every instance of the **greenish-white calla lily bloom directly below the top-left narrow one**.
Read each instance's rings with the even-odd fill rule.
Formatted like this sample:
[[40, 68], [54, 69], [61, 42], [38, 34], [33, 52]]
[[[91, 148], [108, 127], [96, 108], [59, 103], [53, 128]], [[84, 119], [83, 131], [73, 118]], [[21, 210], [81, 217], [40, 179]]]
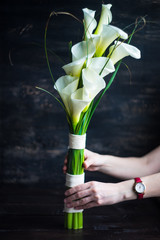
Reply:
[[96, 49], [92, 40], [82, 41], [75, 44], [72, 49], [72, 61], [79, 60], [81, 58], [91, 58]]

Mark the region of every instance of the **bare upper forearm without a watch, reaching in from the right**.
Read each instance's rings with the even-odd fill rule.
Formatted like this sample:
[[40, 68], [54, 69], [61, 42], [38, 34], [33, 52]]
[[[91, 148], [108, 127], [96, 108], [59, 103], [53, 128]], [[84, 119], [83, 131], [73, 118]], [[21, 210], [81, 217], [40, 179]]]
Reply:
[[99, 171], [117, 178], [131, 179], [151, 175], [160, 171], [160, 147], [139, 158], [103, 155], [102, 162]]

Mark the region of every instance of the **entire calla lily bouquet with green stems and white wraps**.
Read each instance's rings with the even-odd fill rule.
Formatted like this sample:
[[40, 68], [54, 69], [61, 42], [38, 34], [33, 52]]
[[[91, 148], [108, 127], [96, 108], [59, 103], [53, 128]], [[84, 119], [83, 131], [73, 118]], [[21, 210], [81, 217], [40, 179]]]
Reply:
[[[83, 41], [71, 46], [72, 61], [62, 67], [65, 72], [64, 76], [54, 81], [54, 88], [59, 93], [60, 99], [39, 88], [56, 98], [66, 113], [69, 125], [66, 173], [66, 187], [68, 188], [84, 183], [83, 161], [86, 131], [99, 101], [117, 74], [121, 59], [126, 56], [140, 58], [140, 51], [129, 44], [139, 22], [136, 22], [132, 33], [128, 36], [126, 32], [110, 24], [112, 21], [111, 6], [111, 4], [102, 5], [98, 24], [95, 11], [88, 8], [82, 9], [84, 13]], [[52, 15], [54, 14], [62, 13]], [[46, 34], [47, 28], [45, 51], [49, 71], [54, 80], [47, 55]], [[64, 212], [67, 229], [83, 228], [82, 210], [64, 206]]]

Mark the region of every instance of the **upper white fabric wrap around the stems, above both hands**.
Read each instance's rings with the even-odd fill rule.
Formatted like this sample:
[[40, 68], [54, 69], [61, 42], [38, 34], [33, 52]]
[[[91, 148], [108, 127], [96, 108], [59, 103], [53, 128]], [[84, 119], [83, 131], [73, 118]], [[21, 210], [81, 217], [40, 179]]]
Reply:
[[84, 149], [86, 147], [86, 134], [75, 135], [69, 134], [69, 148], [70, 149]]

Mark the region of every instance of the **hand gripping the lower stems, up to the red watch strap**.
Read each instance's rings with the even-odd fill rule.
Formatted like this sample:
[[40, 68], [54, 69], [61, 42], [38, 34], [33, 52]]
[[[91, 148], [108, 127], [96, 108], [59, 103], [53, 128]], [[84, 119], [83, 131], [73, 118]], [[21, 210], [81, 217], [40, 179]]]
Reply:
[[134, 180], [120, 183], [87, 182], [67, 190], [64, 202], [68, 208], [78, 210], [135, 199], [133, 184]]

